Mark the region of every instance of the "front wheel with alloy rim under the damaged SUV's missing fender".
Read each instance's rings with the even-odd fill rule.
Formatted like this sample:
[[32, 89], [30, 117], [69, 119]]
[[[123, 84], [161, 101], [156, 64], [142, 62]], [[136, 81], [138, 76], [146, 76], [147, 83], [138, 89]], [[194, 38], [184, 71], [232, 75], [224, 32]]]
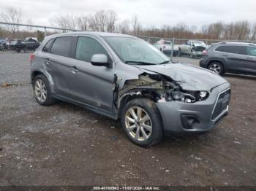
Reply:
[[[140, 116], [140, 120], [135, 120], [135, 117], [132, 117], [132, 110], [136, 116]], [[138, 114], [138, 110], [141, 111], [140, 114]], [[146, 98], [134, 99], [124, 106], [121, 111], [121, 127], [128, 139], [141, 147], [157, 144], [162, 140], [164, 134], [157, 105], [154, 104], [154, 101]]]

